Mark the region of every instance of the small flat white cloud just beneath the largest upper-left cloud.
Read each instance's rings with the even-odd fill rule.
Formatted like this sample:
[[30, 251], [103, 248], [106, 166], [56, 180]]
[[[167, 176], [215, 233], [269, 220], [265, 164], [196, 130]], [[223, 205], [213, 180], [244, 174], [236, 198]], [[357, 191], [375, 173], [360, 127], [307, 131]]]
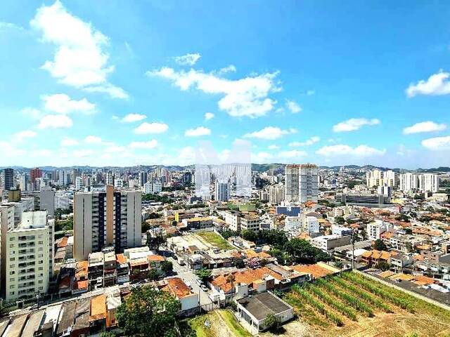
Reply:
[[47, 111], [58, 112], [58, 114], [70, 114], [70, 112], [84, 112], [91, 114], [95, 111], [96, 105], [89, 102], [86, 98], [82, 100], [72, 100], [65, 93], [56, 93], [55, 95], [42, 95], [44, 107]]

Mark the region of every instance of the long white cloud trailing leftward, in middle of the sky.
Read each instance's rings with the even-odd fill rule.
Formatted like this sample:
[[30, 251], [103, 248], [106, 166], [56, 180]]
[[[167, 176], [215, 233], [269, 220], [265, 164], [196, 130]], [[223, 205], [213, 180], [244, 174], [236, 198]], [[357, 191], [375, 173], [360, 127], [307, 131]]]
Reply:
[[280, 91], [274, 83], [277, 72], [243, 79], [224, 79], [214, 73], [206, 74], [197, 70], [176, 72], [169, 67], [148, 71], [148, 76], [168, 79], [182, 91], [196, 88], [204, 93], [224, 95], [218, 103], [219, 109], [233, 117], [261, 117], [271, 111], [276, 103], [268, 98], [269, 93]]

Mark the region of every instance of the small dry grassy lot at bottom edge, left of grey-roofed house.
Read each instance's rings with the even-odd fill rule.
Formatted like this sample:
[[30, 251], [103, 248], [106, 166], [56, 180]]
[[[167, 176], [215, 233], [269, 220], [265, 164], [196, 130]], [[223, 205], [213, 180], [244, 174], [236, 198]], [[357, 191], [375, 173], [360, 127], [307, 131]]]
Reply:
[[213, 310], [189, 321], [197, 337], [250, 337], [229, 310]]

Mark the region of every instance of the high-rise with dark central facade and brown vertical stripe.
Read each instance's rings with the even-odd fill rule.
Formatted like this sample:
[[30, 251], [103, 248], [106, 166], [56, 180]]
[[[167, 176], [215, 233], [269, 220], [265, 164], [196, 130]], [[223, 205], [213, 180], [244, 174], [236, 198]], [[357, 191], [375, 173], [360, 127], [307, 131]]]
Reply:
[[134, 190], [77, 192], [74, 196], [74, 257], [113, 246], [121, 252], [141, 246], [142, 194]]

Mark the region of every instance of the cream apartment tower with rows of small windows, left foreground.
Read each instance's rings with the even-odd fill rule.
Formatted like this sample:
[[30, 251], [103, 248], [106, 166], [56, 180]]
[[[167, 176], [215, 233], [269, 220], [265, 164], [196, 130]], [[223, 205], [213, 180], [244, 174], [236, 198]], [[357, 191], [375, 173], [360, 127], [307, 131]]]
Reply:
[[47, 220], [46, 211], [32, 211], [23, 213], [18, 227], [6, 233], [6, 300], [32, 298], [49, 290], [53, 227], [54, 220]]

